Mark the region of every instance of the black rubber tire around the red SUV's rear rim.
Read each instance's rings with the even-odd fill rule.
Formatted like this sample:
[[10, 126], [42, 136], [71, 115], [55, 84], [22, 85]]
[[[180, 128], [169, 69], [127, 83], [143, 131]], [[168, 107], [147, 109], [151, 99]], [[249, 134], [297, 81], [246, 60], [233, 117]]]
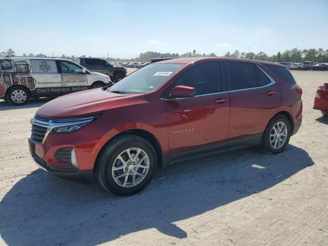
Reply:
[[[270, 135], [271, 135], [271, 131], [273, 130], [273, 127], [278, 122], [283, 122], [285, 124], [285, 126], [287, 128], [287, 136], [286, 136], [284, 144], [280, 148], [276, 149], [271, 145], [271, 136]], [[264, 151], [268, 151], [273, 154], [279, 154], [282, 151], [284, 151], [285, 148], [288, 146], [289, 139], [291, 138], [291, 133], [292, 133], [292, 128], [291, 128], [291, 122], [289, 121], [289, 119], [284, 115], [277, 115], [270, 120], [267, 128], [265, 128], [265, 131], [262, 136], [261, 148]]]

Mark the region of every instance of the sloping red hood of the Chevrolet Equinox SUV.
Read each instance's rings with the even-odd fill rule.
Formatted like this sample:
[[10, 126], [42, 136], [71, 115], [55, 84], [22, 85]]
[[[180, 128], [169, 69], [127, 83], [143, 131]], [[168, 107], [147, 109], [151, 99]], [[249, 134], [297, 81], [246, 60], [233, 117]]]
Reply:
[[82, 117], [141, 97], [140, 94], [116, 94], [99, 88], [60, 96], [41, 106], [36, 114], [53, 119]]

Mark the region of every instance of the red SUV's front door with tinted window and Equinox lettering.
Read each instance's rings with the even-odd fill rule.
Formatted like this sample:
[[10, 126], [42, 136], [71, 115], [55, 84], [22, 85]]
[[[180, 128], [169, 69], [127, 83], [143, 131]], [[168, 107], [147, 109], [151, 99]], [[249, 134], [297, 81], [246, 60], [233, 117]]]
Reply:
[[171, 157], [201, 151], [202, 147], [227, 147], [230, 99], [221, 70], [218, 62], [196, 65], [168, 89], [167, 95], [174, 86], [196, 88], [195, 97], [166, 100]]

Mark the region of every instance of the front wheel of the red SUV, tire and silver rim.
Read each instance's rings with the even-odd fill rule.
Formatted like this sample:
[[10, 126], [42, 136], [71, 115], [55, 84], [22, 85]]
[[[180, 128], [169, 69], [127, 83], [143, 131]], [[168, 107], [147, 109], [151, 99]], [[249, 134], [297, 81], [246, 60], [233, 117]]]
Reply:
[[150, 142], [124, 135], [109, 142], [99, 154], [97, 177], [108, 192], [132, 195], [148, 185], [156, 167], [156, 152]]

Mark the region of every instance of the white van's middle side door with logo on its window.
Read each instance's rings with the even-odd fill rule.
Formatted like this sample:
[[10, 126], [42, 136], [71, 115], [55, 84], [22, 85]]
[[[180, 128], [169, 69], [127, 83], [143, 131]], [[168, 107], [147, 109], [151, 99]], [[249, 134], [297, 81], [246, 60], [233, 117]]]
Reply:
[[[56, 61], [50, 59], [30, 59], [31, 72], [21, 77], [21, 84], [34, 83], [31, 90], [32, 97], [48, 97], [60, 94], [61, 78], [57, 69]], [[58, 90], [59, 89], [59, 90]]]

